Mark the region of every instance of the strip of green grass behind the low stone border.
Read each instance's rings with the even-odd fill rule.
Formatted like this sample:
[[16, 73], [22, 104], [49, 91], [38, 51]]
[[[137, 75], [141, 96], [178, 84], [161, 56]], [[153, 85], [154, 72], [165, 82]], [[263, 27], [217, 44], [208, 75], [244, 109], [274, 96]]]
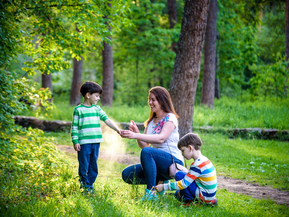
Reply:
[[[69, 106], [68, 97], [54, 96], [56, 108], [50, 111], [42, 111], [40, 118], [47, 120], [72, 120], [73, 108]], [[99, 103], [101, 106], [101, 101]], [[101, 106], [102, 107], [102, 106]], [[103, 106], [102, 109], [109, 118], [115, 122], [129, 123], [129, 120], [143, 123], [150, 113], [149, 106], [136, 105], [113, 105], [113, 107]], [[250, 101], [249, 99], [222, 97], [215, 99], [214, 109], [202, 107], [198, 103], [194, 106], [193, 127], [198, 128], [203, 125], [210, 125], [216, 128], [276, 128], [289, 129], [289, 103], [283, 99], [276, 102], [274, 99], [264, 101]], [[34, 112], [22, 115], [34, 116]]]

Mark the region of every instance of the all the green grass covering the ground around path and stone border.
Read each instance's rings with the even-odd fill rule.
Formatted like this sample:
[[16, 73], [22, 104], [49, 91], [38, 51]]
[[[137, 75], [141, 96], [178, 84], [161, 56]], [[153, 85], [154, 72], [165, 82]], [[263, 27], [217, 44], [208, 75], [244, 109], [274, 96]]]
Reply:
[[[42, 118], [69, 121], [73, 107], [67, 106], [67, 99], [61, 101], [55, 97], [55, 104], [57, 109], [47, 114], [43, 112]], [[129, 119], [143, 122], [149, 112], [147, 105], [132, 108], [115, 105], [103, 109], [117, 122], [128, 122]], [[288, 129], [287, 116], [288, 102], [285, 101], [270, 104], [223, 98], [215, 101], [214, 110], [195, 106], [194, 127]], [[121, 139], [114, 133], [103, 129], [105, 142], [101, 144], [102, 150], [135, 152], [139, 156], [140, 148], [135, 140]], [[169, 194], [158, 201], [142, 203], [139, 199], [145, 186], [125, 184], [121, 179], [125, 165], [103, 159], [98, 160], [96, 194], [88, 196], [79, 189], [77, 155], [73, 153], [65, 157], [53, 147], [53, 144], [72, 145], [69, 132], [40, 133], [38, 139], [31, 136], [3, 140], [13, 156], [11, 158], [8, 152], [3, 152], [5, 156], [0, 155], [0, 216], [289, 216], [289, 207], [285, 205], [220, 188], [216, 195], [217, 207], [179, 207], [179, 202]], [[200, 136], [202, 153], [213, 162], [218, 175], [289, 191], [288, 142], [252, 137], [230, 139], [221, 133], [200, 133]], [[25, 144], [9, 145], [14, 140]], [[42, 146], [44, 142], [48, 144]], [[35, 153], [25, 152], [26, 146]], [[13, 159], [13, 164], [8, 158]], [[190, 163], [192, 160], [187, 162], [188, 165]], [[18, 167], [20, 169], [13, 173], [13, 169]], [[27, 167], [31, 167], [31, 171]]]

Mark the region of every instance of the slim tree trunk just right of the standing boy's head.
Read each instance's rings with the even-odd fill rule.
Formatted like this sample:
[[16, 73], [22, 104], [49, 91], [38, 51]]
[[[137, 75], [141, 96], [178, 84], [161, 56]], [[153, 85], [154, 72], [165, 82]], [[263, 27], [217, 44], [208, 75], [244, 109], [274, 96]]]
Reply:
[[[108, 3], [108, 6], [111, 7], [111, 4]], [[107, 18], [107, 16], [105, 16]], [[108, 30], [111, 31], [111, 27], [108, 22], [105, 22], [105, 25], [108, 26]], [[112, 40], [112, 37], [109, 37]], [[103, 51], [102, 51], [102, 88], [103, 93], [101, 96], [102, 105], [109, 105], [112, 107], [113, 100], [113, 56], [112, 56], [112, 46], [109, 43], [103, 42]]]

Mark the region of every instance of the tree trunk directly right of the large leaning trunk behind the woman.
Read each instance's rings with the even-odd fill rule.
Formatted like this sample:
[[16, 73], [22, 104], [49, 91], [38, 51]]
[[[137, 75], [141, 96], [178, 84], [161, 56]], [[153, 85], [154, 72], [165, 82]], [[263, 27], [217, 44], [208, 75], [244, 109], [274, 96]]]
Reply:
[[201, 105], [214, 108], [215, 69], [216, 69], [216, 35], [217, 35], [217, 0], [211, 0], [205, 31], [203, 86]]

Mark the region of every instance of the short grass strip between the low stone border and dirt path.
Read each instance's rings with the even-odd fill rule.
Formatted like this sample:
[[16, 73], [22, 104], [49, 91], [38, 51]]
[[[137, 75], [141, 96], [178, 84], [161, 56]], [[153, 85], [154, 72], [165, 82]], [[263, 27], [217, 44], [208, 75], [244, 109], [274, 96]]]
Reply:
[[[55, 144], [73, 145], [68, 133], [45, 133], [45, 136]], [[212, 161], [218, 175], [289, 191], [288, 142], [257, 140], [252, 137], [231, 139], [221, 133], [200, 133], [200, 136], [203, 141], [202, 154]], [[116, 133], [109, 136], [105, 134], [100, 149], [134, 152], [136, 156], [140, 156], [141, 150], [136, 140], [119, 138]], [[187, 161], [187, 165], [191, 163], [192, 159]]]

